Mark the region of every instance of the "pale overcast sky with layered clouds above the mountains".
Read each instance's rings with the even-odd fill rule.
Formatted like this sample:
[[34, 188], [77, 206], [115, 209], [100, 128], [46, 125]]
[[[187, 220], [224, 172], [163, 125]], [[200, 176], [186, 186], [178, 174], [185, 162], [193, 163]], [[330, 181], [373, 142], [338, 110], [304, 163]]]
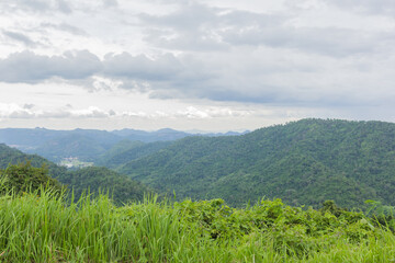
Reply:
[[394, 0], [3, 0], [0, 128], [395, 122]]

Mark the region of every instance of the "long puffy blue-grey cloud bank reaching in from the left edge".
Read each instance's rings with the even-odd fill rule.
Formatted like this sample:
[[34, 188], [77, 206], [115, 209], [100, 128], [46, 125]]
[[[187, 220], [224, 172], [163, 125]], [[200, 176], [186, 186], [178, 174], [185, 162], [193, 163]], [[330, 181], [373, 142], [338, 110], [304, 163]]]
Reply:
[[35, 83], [53, 77], [83, 80], [94, 75], [146, 81], [166, 81], [177, 77], [184, 66], [173, 55], [157, 59], [128, 53], [109, 54], [100, 60], [88, 50], [66, 52], [63, 56], [43, 56], [32, 52], [11, 54], [0, 59], [0, 81]]

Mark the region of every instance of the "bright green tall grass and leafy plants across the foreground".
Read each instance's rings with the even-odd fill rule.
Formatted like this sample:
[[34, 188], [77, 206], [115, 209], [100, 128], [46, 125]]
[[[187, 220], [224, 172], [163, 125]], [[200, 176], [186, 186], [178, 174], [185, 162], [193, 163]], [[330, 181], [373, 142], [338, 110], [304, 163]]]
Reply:
[[0, 262], [395, 262], [395, 237], [361, 213], [262, 201], [116, 207], [52, 191], [0, 196]]

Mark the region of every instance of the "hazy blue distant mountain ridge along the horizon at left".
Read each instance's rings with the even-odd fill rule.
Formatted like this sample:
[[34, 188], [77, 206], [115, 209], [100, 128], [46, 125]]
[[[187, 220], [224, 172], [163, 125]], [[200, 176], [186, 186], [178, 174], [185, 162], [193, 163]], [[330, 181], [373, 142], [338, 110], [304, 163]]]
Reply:
[[[223, 134], [216, 135], [223, 136]], [[0, 144], [15, 147], [29, 153], [37, 153], [55, 162], [68, 157], [78, 157], [83, 161], [97, 161], [99, 156], [104, 155], [115, 144], [125, 139], [154, 142], [171, 141], [188, 136], [192, 136], [192, 134], [170, 128], [156, 132], [137, 129], [106, 132], [80, 128], [74, 130], [4, 128], [0, 129]], [[207, 136], [215, 136], [215, 134]]]

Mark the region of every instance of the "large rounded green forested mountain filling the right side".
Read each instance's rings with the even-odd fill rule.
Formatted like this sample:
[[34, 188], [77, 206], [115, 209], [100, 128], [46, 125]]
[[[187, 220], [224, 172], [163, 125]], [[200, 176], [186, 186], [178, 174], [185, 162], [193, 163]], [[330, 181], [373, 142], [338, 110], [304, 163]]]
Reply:
[[395, 205], [395, 124], [302, 119], [242, 136], [187, 137], [119, 171], [177, 196]]

